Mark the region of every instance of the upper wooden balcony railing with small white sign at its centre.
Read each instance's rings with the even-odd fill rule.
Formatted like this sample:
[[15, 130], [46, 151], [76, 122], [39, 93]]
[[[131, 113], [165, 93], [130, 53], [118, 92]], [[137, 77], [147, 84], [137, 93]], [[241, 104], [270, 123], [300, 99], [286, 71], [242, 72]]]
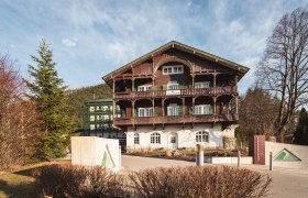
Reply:
[[131, 91], [131, 92], [116, 92], [114, 99], [145, 99], [145, 98], [163, 98], [163, 97], [193, 97], [193, 96], [219, 96], [219, 95], [237, 95], [237, 87], [210, 87], [210, 88], [187, 88], [177, 90], [151, 90], [151, 91]]

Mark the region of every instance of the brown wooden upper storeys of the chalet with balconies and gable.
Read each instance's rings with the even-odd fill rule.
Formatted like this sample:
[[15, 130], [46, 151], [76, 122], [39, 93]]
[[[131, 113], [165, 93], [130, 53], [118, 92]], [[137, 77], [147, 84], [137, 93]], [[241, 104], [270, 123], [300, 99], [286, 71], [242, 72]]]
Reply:
[[[113, 89], [113, 107], [118, 105], [125, 112], [114, 118], [113, 124], [185, 128], [195, 123], [235, 123], [238, 81], [248, 70], [173, 41], [103, 77]], [[197, 112], [199, 106], [205, 110]], [[151, 113], [141, 113], [143, 108], [151, 109]]]

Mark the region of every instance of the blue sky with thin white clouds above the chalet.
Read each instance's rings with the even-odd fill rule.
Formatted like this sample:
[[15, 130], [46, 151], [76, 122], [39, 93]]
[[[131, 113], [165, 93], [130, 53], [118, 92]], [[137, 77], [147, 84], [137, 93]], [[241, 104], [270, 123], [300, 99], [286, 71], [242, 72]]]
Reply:
[[266, 38], [286, 13], [308, 0], [1, 0], [0, 54], [9, 53], [28, 77], [30, 55], [45, 37], [69, 88], [101, 77], [175, 40], [251, 68], [254, 82]]

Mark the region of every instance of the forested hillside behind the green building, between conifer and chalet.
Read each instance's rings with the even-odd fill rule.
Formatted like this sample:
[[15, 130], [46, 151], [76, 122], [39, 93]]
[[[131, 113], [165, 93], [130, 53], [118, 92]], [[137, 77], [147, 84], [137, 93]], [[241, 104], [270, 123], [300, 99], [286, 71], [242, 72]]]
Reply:
[[75, 130], [77, 131], [82, 128], [84, 101], [109, 98], [111, 96], [112, 96], [112, 90], [106, 84], [68, 90], [67, 91], [68, 106], [69, 106], [68, 114], [74, 119]]

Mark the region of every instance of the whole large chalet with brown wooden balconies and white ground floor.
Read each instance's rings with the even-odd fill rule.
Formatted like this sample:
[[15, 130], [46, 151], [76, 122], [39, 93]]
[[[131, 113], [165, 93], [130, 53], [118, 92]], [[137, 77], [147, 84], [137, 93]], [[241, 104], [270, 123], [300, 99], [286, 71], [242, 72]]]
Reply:
[[128, 148], [234, 143], [238, 82], [249, 68], [172, 41], [106, 75]]

